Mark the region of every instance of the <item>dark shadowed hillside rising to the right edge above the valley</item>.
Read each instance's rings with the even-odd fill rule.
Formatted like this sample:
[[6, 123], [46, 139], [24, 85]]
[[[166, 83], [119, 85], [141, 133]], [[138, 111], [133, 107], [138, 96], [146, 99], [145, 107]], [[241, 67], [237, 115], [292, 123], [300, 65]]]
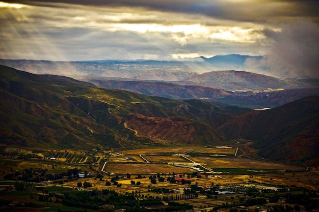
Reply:
[[252, 140], [262, 157], [313, 165], [319, 156], [319, 96], [251, 111], [218, 129], [231, 138]]

